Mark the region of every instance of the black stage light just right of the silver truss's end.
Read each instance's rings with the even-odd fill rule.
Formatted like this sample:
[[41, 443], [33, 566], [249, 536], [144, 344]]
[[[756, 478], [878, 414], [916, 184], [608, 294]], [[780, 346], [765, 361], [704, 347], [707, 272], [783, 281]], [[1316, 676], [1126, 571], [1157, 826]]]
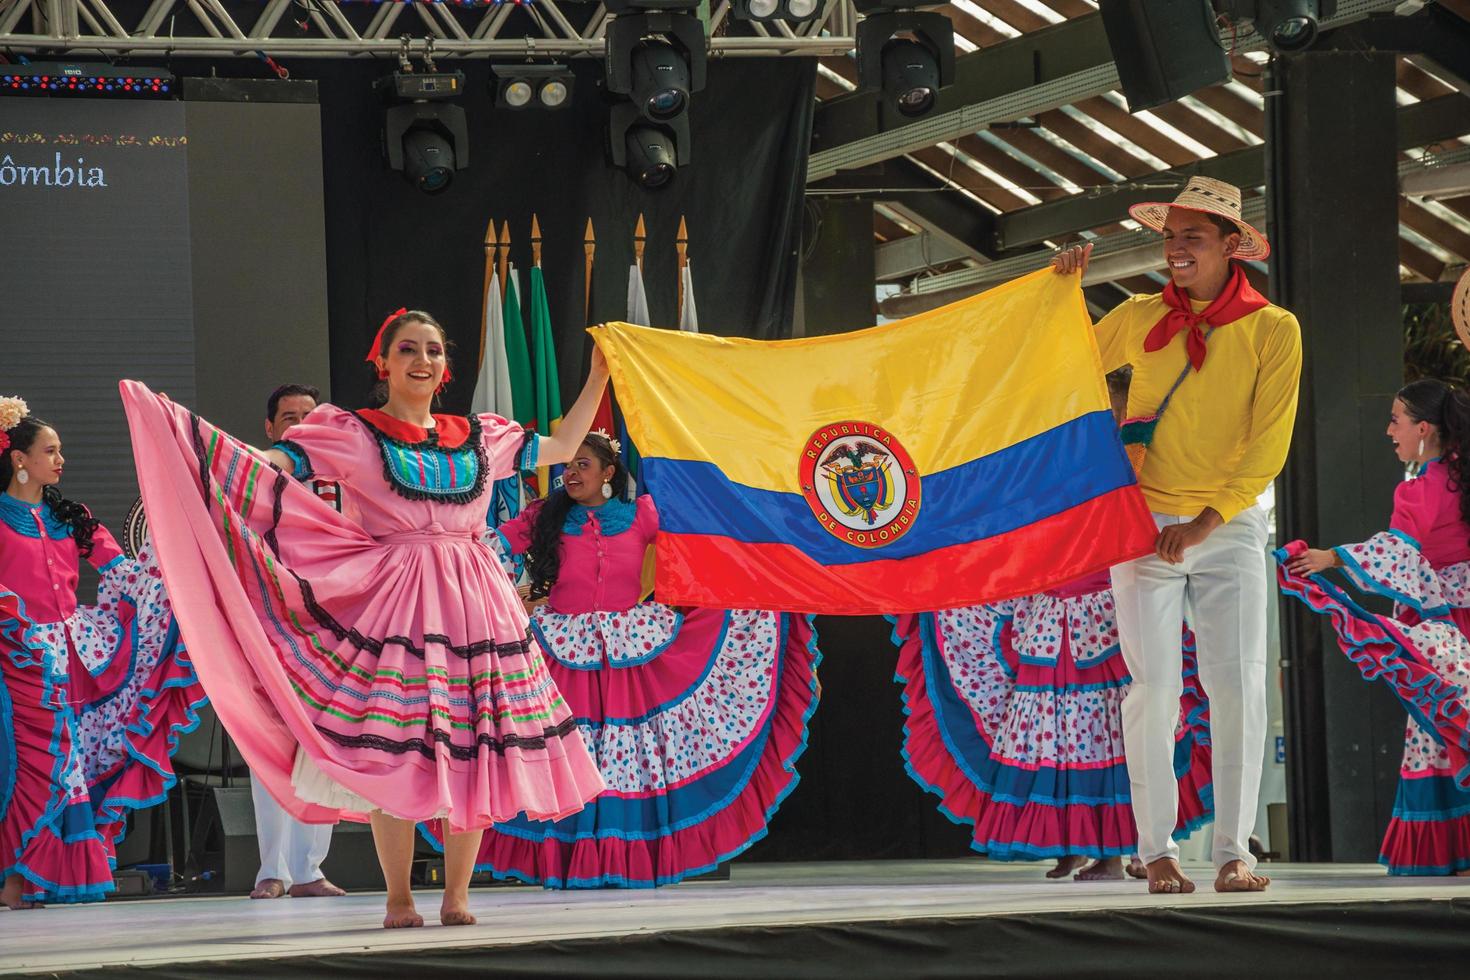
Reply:
[[954, 25], [933, 10], [869, 13], [857, 25], [857, 78], [901, 116], [931, 112], [954, 82]]

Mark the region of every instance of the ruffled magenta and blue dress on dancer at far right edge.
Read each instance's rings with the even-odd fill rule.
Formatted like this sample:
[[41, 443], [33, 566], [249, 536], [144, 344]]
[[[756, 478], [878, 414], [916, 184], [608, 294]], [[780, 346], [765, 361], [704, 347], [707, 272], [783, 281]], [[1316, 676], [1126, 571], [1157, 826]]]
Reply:
[[1389, 874], [1470, 870], [1470, 526], [1442, 461], [1394, 492], [1389, 530], [1333, 548], [1348, 580], [1394, 602], [1370, 613], [1324, 574], [1297, 576], [1280, 551], [1282, 591], [1329, 617], [1338, 645], [1367, 680], [1408, 710], [1394, 815], [1379, 862]]

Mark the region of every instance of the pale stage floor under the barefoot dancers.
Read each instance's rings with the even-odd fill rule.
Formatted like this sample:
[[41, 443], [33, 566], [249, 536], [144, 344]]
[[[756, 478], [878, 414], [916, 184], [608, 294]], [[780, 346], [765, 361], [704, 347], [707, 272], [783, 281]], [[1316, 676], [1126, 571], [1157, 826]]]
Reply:
[[[1463, 920], [1470, 908], [1463, 904], [1470, 902], [1470, 879], [1389, 879], [1374, 865], [1266, 865], [1263, 870], [1274, 884], [1264, 895], [1216, 895], [1208, 890], [1210, 870], [1189, 865], [1186, 870], [1201, 890], [1173, 898], [1150, 896], [1135, 880], [1047, 882], [1042, 879], [1047, 867], [980, 860], [736, 864], [729, 882], [657, 890], [484, 887], [470, 893], [479, 924], [465, 929], [438, 926], [438, 893], [422, 892], [419, 911], [431, 924], [395, 932], [379, 927], [381, 893], [268, 902], [169, 898], [6, 911], [0, 912], [0, 974], [110, 973], [131, 967], [163, 968], [169, 976], [220, 976], [219, 967], [226, 964], [226, 973], [232, 973], [250, 961], [298, 958], [309, 958], [316, 967], [313, 973], [320, 974], [334, 956], [348, 956], [357, 964], [356, 976], [369, 976], [360, 973], [365, 955], [387, 955], [387, 967], [407, 954], [417, 959], [478, 949], [481, 965], [495, 970], [501, 954], [528, 945], [589, 939], [626, 945], [645, 936], [707, 936], [711, 930], [734, 930], [734, 936], [854, 923], [901, 923], [922, 930], [931, 920], [951, 924], [963, 920], [973, 929], [976, 918], [994, 927], [1007, 917], [1057, 923], [1079, 912], [1126, 917], [1163, 909], [1177, 915], [1241, 907], [1285, 917], [1289, 907], [1326, 907], [1330, 912], [1333, 907], [1386, 908], [1426, 901], [1445, 902], [1448, 912], [1454, 899], [1460, 899], [1454, 905]], [[1460, 930], [1470, 937], [1463, 921]], [[256, 962], [251, 973], [282, 976], [281, 968], [287, 967], [285, 974], [291, 974], [291, 965]], [[670, 973], [682, 971], [670, 968]], [[1200, 971], [1189, 968], [1189, 973]]]

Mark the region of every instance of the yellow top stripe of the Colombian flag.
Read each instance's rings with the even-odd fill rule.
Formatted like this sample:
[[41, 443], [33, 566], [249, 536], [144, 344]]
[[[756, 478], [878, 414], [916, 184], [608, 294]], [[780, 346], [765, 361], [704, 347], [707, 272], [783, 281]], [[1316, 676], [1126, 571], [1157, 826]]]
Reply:
[[1050, 269], [833, 336], [589, 332], [639, 453], [710, 461], [760, 489], [800, 494], [794, 461], [832, 422], [882, 426], [936, 473], [1108, 407], [1080, 282]]

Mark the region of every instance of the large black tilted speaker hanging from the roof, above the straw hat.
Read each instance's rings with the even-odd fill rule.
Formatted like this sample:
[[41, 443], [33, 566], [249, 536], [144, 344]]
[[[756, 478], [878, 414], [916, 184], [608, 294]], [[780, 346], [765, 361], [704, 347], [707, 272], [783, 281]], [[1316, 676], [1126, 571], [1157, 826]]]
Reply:
[[1230, 78], [1210, 0], [1100, 0], [1098, 6], [1129, 112]]

